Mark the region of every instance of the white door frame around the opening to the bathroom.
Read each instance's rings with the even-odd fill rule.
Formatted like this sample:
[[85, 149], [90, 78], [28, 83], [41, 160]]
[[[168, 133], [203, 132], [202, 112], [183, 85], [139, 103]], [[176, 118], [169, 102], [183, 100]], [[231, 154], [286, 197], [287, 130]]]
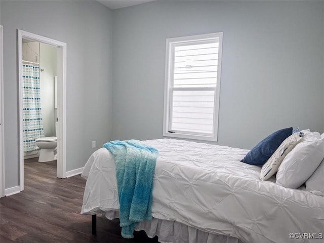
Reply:
[[66, 177], [66, 43], [42, 35], [18, 29], [18, 69], [19, 69], [19, 160], [20, 191], [24, 190], [24, 146], [22, 124], [22, 39], [48, 44], [58, 48], [57, 56], [57, 177]]

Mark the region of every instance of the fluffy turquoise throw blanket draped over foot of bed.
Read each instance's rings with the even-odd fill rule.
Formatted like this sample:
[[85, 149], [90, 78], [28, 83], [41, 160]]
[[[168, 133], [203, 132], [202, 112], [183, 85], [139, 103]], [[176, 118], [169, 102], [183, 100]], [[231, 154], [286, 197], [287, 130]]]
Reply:
[[138, 140], [111, 141], [103, 146], [111, 152], [116, 164], [121, 235], [133, 238], [137, 223], [152, 218], [153, 175], [158, 151]]

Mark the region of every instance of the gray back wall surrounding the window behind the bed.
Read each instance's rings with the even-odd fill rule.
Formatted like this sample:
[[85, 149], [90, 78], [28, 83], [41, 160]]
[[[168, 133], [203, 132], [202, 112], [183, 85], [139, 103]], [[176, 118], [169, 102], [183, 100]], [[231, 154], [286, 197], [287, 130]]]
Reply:
[[223, 32], [218, 144], [323, 132], [323, 2], [158, 1], [113, 11], [113, 139], [162, 137], [166, 38]]

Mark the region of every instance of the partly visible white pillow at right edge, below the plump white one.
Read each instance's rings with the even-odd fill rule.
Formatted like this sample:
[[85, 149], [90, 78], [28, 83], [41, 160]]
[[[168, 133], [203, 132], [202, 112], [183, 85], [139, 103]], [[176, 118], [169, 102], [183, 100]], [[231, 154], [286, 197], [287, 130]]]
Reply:
[[306, 181], [306, 190], [316, 195], [324, 196], [324, 159], [313, 175]]

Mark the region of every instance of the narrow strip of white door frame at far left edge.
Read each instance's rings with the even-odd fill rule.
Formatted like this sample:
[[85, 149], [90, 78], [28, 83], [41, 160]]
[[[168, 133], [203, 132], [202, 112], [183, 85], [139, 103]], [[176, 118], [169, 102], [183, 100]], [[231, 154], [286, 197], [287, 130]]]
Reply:
[[0, 25], [0, 197], [5, 196], [4, 28]]

